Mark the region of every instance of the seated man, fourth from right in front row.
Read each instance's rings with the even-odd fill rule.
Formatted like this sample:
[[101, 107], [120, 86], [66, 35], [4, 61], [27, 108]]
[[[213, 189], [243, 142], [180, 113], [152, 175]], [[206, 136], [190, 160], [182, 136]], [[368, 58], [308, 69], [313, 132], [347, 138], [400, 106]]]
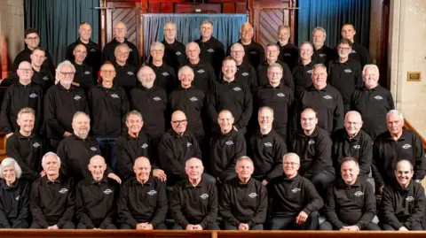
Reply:
[[249, 157], [240, 157], [235, 166], [238, 178], [222, 187], [219, 211], [225, 230], [263, 230], [268, 207], [268, 192], [264, 185], [251, 178], [254, 171]]

